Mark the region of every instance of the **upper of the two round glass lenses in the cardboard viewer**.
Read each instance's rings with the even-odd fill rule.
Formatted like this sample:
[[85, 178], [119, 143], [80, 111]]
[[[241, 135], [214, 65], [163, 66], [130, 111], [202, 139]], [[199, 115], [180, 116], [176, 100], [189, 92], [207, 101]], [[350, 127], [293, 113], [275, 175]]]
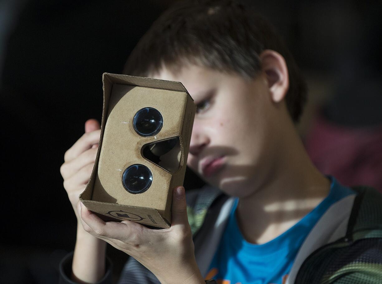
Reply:
[[163, 117], [155, 108], [142, 108], [134, 115], [133, 127], [140, 136], [154, 136], [162, 126]]

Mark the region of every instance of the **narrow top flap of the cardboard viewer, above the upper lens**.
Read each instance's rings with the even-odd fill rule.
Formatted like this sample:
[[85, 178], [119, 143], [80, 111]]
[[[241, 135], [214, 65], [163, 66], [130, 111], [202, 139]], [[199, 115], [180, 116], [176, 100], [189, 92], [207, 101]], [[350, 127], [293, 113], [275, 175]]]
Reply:
[[163, 89], [163, 90], [170, 90], [170, 91], [185, 92], [188, 94], [186, 88], [183, 86], [181, 82], [104, 73], [102, 75], [102, 81], [104, 82], [104, 86], [105, 86], [106, 79], [109, 82], [109, 84], [123, 84], [123, 85], [131, 85], [131, 86], [138, 86], [138, 87], [147, 87], [152, 89]]

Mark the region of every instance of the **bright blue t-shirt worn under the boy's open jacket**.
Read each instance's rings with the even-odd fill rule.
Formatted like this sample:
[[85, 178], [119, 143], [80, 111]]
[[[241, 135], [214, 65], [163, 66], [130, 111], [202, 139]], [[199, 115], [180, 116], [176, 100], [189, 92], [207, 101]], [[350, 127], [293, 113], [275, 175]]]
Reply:
[[243, 238], [236, 223], [236, 199], [206, 277], [222, 284], [282, 284], [299, 248], [317, 221], [330, 205], [354, 194], [335, 178], [328, 178], [331, 180], [328, 196], [290, 229], [261, 245], [251, 244]]

